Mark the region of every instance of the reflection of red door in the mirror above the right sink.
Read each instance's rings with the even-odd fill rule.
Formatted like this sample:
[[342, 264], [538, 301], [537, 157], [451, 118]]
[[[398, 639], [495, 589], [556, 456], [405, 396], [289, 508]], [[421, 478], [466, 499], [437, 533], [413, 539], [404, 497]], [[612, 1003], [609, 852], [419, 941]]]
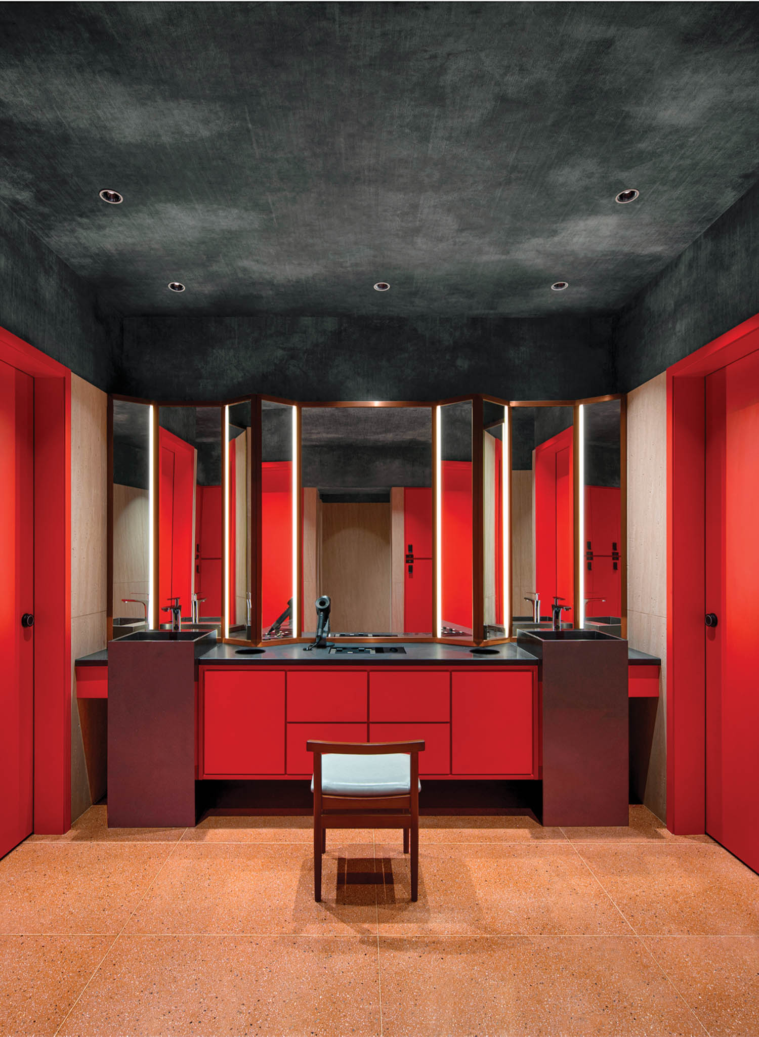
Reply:
[[555, 596], [564, 598], [562, 622], [574, 615], [572, 451], [571, 428], [535, 448], [535, 581], [543, 614]]

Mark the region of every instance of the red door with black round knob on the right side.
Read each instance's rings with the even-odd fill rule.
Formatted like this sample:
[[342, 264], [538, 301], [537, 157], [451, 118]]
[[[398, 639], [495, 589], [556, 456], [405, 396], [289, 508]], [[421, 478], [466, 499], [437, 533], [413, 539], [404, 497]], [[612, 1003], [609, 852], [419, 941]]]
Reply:
[[759, 353], [706, 379], [706, 831], [759, 871]]

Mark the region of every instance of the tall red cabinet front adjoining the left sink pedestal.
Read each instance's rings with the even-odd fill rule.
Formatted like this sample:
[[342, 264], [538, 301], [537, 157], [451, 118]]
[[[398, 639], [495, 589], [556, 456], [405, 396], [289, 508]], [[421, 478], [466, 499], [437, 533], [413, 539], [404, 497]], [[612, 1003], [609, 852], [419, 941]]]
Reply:
[[284, 774], [284, 674], [203, 673], [203, 774]]

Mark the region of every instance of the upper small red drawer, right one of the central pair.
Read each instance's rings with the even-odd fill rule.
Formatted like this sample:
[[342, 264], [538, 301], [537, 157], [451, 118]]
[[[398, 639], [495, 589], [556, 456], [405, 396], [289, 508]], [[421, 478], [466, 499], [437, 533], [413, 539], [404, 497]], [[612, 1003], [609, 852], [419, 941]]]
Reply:
[[369, 720], [447, 722], [451, 719], [450, 689], [451, 675], [447, 670], [370, 673]]

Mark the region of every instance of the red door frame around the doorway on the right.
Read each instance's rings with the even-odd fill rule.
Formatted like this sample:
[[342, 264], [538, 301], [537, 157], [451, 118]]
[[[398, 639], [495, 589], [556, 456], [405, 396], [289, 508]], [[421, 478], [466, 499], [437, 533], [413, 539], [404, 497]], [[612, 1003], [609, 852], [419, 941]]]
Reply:
[[667, 828], [706, 826], [705, 379], [759, 349], [759, 314], [667, 369]]

